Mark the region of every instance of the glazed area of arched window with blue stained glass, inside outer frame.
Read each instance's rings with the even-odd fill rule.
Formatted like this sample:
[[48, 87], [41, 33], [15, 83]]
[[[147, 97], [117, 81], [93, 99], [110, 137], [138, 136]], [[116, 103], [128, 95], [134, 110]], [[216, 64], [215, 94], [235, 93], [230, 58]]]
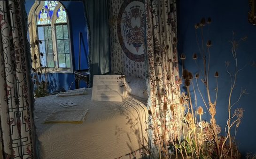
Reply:
[[48, 68], [70, 69], [71, 50], [67, 13], [55, 0], [40, 1], [37, 10], [37, 40], [40, 64]]

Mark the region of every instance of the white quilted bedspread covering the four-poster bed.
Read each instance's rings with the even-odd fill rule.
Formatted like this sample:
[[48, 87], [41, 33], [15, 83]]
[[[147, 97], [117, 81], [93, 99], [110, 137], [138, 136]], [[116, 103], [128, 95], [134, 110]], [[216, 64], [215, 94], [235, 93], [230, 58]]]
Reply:
[[[51, 95], [35, 101], [37, 135], [42, 159], [115, 159], [147, 145], [147, 108], [128, 95], [123, 102], [91, 101], [88, 94]], [[77, 106], [63, 108], [61, 101]], [[53, 110], [88, 109], [82, 124], [47, 123]]]

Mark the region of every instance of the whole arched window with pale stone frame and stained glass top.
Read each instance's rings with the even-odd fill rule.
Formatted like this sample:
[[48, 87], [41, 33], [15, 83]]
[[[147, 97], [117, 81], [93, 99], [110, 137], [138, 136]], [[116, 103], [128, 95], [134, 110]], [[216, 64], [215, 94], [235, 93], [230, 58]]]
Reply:
[[69, 22], [61, 2], [36, 0], [28, 18], [31, 54], [40, 57], [33, 65], [50, 72], [72, 72]]

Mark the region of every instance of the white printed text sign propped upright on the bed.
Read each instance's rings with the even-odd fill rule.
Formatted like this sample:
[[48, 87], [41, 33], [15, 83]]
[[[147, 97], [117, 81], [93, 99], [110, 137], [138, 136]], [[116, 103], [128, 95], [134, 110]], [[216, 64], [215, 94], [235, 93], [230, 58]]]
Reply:
[[92, 101], [123, 101], [127, 97], [124, 75], [94, 75]]

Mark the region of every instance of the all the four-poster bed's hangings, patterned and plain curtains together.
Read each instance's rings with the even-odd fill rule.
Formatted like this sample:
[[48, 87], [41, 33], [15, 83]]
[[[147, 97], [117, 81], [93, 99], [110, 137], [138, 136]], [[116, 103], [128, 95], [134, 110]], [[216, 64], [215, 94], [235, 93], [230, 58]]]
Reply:
[[[163, 105], [178, 102], [180, 91], [176, 0], [79, 1], [89, 26], [91, 74], [111, 71], [146, 79], [148, 108], [169, 138], [167, 125], [175, 116], [163, 122]], [[37, 158], [24, 2], [0, 1], [0, 159]]]

